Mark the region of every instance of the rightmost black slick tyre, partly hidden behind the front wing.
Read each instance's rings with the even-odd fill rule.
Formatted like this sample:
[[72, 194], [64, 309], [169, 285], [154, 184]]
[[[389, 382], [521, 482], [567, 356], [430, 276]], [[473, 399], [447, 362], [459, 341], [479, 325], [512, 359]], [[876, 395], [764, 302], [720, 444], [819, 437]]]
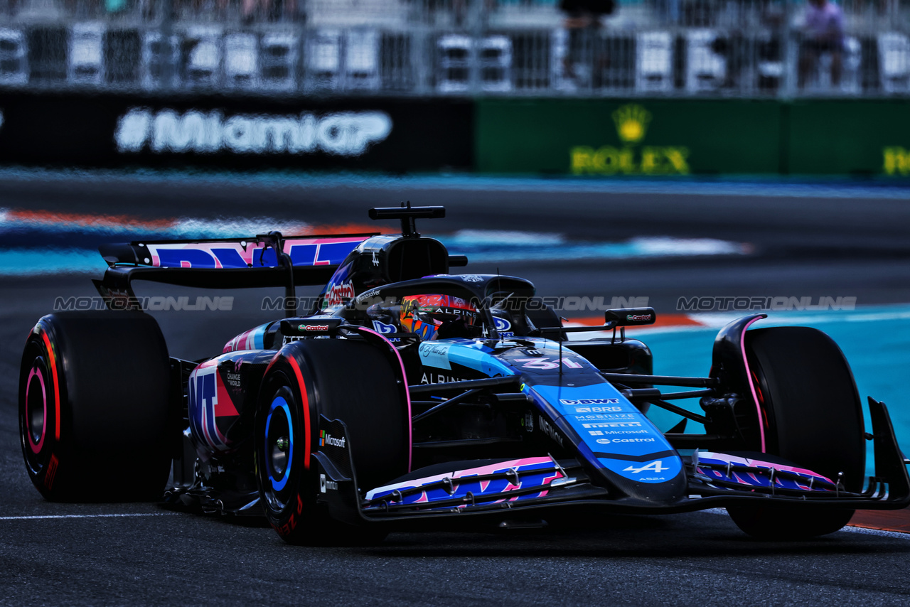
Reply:
[[[806, 327], [745, 334], [746, 357], [762, 407], [765, 450], [832, 481], [863, 491], [863, 410], [844, 354], [823, 332]], [[733, 522], [763, 540], [805, 539], [838, 531], [853, 510], [737, 506]]]

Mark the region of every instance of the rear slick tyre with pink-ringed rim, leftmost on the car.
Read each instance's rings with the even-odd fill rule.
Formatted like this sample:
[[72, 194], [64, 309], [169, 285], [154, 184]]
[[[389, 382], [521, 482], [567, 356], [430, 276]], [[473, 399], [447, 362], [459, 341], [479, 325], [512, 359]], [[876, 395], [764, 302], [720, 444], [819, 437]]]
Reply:
[[157, 322], [126, 311], [39, 320], [19, 372], [25, 467], [50, 501], [156, 500], [175, 427]]

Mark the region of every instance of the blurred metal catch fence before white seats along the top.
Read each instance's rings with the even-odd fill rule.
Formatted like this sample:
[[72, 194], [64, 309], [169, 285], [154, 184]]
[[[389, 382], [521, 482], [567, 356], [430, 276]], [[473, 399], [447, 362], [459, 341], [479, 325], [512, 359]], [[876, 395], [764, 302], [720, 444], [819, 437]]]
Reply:
[[910, 0], [0, 0], [0, 86], [910, 94]]

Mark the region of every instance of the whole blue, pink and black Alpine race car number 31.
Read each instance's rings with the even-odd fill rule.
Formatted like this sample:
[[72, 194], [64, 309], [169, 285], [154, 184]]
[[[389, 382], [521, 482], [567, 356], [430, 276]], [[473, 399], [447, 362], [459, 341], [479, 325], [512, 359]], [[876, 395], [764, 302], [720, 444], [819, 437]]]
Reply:
[[[265, 516], [300, 544], [565, 512], [726, 508], [745, 532], [837, 531], [910, 504], [885, 405], [816, 329], [723, 328], [707, 377], [652, 374], [614, 309], [563, 327], [531, 282], [450, 274], [467, 259], [416, 232], [442, 207], [374, 208], [400, 236], [143, 242], [101, 248], [109, 309], [45, 316], [25, 344], [25, 463], [53, 501], [162, 499]], [[284, 286], [285, 316], [210, 359], [170, 357], [131, 288]], [[326, 284], [298, 316], [299, 285]], [[584, 331], [594, 331], [592, 339]], [[617, 331], [619, 334], [617, 335]], [[662, 391], [659, 386], [683, 389]], [[702, 413], [671, 400], [699, 399]], [[650, 407], [685, 420], [662, 433]], [[875, 476], [865, 479], [865, 443]]]

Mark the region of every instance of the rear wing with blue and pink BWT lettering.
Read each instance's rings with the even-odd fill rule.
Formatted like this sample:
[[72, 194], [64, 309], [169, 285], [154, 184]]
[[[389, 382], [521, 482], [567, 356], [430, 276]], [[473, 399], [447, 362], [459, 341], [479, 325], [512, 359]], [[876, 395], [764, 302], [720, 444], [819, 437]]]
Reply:
[[[110, 309], [139, 309], [133, 280], [183, 287], [284, 287], [285, 313], [296, 314], [294, 288], [324, 285], [348, 254], [372, 234], [157, 240], [102, 245], [108, 268], [94, 280]], [[293, 309], [290, 309], [293, 302]]]

